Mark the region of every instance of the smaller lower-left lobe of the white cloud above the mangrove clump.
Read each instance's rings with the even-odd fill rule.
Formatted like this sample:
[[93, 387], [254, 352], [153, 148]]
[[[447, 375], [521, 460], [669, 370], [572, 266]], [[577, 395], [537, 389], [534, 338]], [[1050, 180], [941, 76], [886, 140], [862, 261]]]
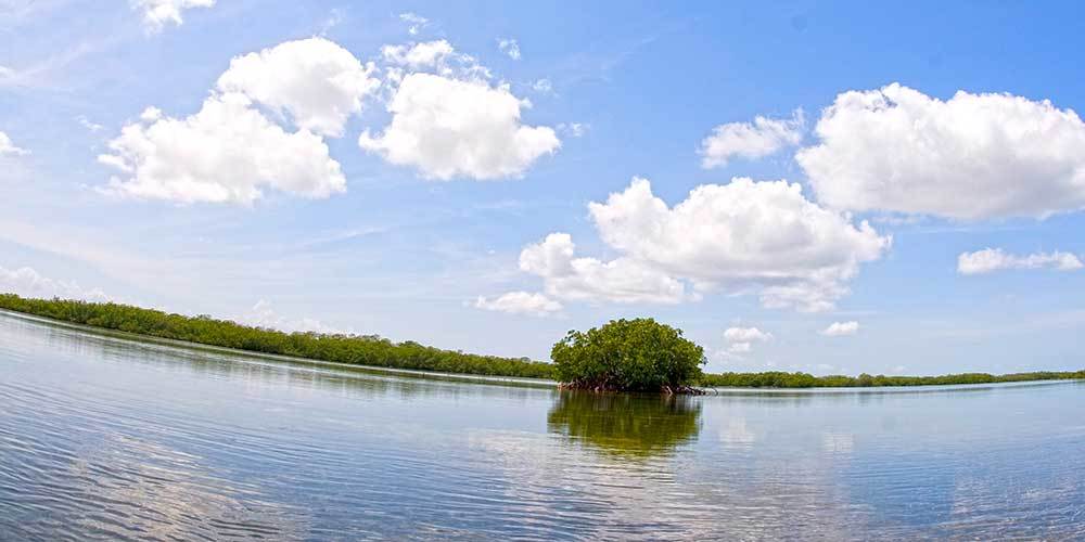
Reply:
[[601, 261], [576, 258], [567, 233], [551, 233], [520, 254], [520, 269], [544, 280], [547, 294], [561, 299], [676, 304], [687, 298], [678, 280], [630, 258]]

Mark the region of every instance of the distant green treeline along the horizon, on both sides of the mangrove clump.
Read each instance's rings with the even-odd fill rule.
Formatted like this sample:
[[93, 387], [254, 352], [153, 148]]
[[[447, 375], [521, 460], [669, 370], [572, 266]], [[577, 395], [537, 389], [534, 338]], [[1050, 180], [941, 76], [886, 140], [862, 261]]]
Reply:
[[[442, 350], [414, 341], [393, 343], [375, 335], [283, 333], [251, 327], [207, 315], [184, 317], [118, 304], [94, 304], [66, 299], [28, 299], [0, 294], [0, 309], [51, 318], [64, 322], [116, 330], [201, 345], [251, 352], [293, 356], [336, 363], [376, 367], [441, 371], [487, 376], [557, 379], [554, 366], [528, 358], [499, 358]], [[814, 376], [806, 373], [706, 373], [697, 385], [738, 388], [814, 388], [933, 386], [1005, 382], [1085, 379], [1085, 371], [1035, 372], [991, 375], [963, 373], [943, 376]]]

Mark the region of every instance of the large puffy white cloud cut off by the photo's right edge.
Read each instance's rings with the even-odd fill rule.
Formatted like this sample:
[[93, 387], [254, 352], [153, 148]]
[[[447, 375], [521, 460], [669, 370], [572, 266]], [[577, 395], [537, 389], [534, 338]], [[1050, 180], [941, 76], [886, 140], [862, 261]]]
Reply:
[[1048, 101], [893, 83], [837, 96], [799, 164], [820, 203], [962, 220], [1085, 208], [1085, 122]]

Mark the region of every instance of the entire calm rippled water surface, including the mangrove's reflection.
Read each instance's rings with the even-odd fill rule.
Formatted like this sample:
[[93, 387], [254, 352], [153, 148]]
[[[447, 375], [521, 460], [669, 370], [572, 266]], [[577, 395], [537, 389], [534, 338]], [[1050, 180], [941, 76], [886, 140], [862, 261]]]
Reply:
[[1085, 538], [1085, 386], [656, 397], [0, 314], [0, 539]]

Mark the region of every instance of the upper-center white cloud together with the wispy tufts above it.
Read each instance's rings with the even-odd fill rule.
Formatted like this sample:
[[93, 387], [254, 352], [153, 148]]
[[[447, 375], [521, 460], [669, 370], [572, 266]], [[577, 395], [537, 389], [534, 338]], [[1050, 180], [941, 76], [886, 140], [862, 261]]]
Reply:
[[363, 151], [426, 179], [490, 180], [521, 177], [561, 146], [553, 128], [521, 121], [529, 101], [447, 41], [384, 46], [381, 55], [392, 120], [362, 132]]

